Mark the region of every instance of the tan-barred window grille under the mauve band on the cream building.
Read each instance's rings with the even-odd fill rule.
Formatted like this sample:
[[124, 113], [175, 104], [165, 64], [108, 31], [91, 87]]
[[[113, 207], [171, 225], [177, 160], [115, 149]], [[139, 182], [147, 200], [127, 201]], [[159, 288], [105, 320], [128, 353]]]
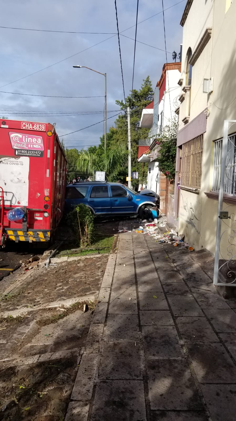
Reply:
[[202, 179], [203, 137], [200, 135], [186, 142], [181, 152], [181, 185], [200, 189]]

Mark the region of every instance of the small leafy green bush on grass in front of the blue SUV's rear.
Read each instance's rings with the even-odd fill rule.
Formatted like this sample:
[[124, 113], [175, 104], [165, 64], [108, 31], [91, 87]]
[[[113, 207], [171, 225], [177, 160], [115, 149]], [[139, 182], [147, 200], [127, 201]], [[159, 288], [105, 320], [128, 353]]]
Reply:
[[94, 232], [94, 216], [91, 210], [81, 203], [68, 214], [67, 221], [78, 235], [80, 247], [89, 247]]

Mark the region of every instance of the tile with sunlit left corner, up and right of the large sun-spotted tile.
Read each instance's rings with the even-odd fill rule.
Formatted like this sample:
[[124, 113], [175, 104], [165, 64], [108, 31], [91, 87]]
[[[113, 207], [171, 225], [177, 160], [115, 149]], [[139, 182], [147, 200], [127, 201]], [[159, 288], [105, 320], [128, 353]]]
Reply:
[[186, 344], [200, 383], [233, 383], [236, 367], [222, 344]]

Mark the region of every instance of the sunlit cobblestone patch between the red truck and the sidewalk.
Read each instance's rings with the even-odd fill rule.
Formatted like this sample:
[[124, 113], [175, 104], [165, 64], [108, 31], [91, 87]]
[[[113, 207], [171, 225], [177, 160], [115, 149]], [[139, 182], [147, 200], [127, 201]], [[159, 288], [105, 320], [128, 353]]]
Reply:
[[36, 306], [69, 298], [91, 296], [97, 293], [108, 262], [108, 256], [84, 258], [31, 269], [34, 272], [16, 289], [1, 297], [1, 312]]

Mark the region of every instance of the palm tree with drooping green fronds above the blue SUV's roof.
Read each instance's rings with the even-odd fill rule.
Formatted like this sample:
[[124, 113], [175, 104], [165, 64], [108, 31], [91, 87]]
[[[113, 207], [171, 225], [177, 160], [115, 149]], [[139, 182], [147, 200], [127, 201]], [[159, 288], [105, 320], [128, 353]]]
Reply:
[[76, 160], [78, 171], [92, 175], [94, 171], [105, 171], [108, 181], [113, 181], [118, 173], [127, 167], [128, 151], [124, 144], [116, 148], [97, 149], [96, 152], [81, 151]]

